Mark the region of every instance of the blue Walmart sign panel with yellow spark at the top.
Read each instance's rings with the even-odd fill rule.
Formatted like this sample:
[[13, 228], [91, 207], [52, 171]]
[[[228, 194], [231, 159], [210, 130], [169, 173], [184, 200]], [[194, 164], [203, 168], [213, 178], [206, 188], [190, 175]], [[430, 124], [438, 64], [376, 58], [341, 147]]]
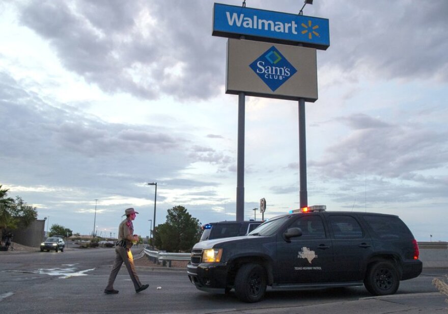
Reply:
[[326, 50], [330, 45], [328, 19], [214, 4], [214, 36], [278, 42]]

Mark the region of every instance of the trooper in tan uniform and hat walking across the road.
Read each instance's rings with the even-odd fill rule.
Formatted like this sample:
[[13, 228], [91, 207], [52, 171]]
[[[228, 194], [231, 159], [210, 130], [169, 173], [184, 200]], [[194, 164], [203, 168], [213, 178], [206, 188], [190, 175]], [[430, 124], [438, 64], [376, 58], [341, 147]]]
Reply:
[[123, 220], [118, 227], [118, 241], [115, 246], [115, 261], [114, 266], [110, 271], [106, 289], [104, 289], [104, 293], [106, 294], [118, 293], [118, 290], [114, 289], [114, 281], [123, 263], [126, 265], [136, 293], [144, 291], [149, 286], [149, 284], [142, 284], [138, 279], [134, 267], [134, 258], [131, 252], [132, 242], [138, 241], [137, 234], [133, 234], [134, 226], [132, 225], [132, 220], [135, 219], [136, 214], [138, 214], [138, 212], [135, 212], [134, 208], [127, 208], [125, 210], [126, 219]]

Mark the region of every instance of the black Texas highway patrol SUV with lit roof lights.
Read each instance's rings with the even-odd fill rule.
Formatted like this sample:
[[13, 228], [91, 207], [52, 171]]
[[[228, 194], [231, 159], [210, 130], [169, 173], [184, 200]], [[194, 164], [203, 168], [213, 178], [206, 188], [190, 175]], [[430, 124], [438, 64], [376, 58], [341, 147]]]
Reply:
[[360, 286], [394, 294], [422, 272], [418, 245], [395, 215], [304, 207], [274, 217], [247, 236], [194, 245], [190, 281], [206, 292], [257, 302], [272, 289]]

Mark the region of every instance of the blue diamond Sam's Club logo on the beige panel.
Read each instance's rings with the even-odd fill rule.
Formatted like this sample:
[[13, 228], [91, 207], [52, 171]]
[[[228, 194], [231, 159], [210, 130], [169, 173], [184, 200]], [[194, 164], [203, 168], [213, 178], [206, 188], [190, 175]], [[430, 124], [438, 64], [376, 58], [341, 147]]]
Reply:
[[273, 92], [297, 72], [274, 46], [249, 66]]

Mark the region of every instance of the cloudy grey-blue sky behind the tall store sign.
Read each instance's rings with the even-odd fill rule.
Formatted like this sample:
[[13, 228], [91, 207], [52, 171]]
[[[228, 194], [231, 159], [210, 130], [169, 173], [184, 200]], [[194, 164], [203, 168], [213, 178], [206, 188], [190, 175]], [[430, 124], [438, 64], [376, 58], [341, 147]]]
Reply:
[[[241, 5], [242, 1], [221, 3]], [[302, 1], [247, 0], [298, 13]], [[124, 209], [149, 234], [183, 205], [235, 219], [238, 97], [213, 2], [2, 1], [0, 185], [38, 218], [114, 234]], [[447, 241], [448, 2], [315, 0], [329, 19], [319, 99], [306, 103], [309, 204], [399, 215]], [[298, 104], [246, 97], [245, 219], [299, 207]], [[95, 220], [95, 199], [97, 211]], [[261, 214], [257, 213], [257, 220]]]

